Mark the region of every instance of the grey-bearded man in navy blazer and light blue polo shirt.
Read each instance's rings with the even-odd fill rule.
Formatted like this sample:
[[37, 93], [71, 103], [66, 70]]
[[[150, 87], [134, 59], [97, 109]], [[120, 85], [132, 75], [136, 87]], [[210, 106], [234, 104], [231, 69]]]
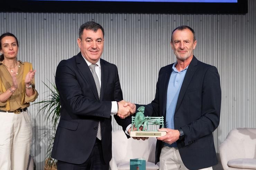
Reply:
[[171, 46], [177, 61], [160, 69], [155, 99], [144, 105], [145, 115], [165, 119], [166, 128], [159, 130], [167, 133], [156, 146], [161, 170], [212, 170], [218, 163], [212, 132], [220, 120], [220, 78], [216, 67], [193, 56], [196, 43], [192, 28], [174, 29]]

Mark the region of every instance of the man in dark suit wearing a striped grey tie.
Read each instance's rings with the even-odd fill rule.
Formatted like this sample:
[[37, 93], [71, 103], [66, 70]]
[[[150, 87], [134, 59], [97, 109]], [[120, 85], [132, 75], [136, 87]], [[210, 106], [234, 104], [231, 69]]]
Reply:
[[109, 170], [111, 115], [125, 129], [130, 122], [121, 118], [135, 110], [123, 107], [117, 67], [100, 59], [104, 47], [100, 24], [82, 24], [77, 43], [81, 52], [62, 60], [56, 70], [61, 116], [52, 158], [58, 160], [58, 170]]

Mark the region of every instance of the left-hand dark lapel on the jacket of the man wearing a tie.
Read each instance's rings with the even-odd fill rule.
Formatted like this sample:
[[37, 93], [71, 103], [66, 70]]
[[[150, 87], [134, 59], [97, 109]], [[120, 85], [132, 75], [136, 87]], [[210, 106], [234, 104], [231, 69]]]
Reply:
[[83, 59], [81, 52], [78, 53], [76, 56], [76, 66], [81, 71], [85, 81], [87, 81], [90, 85], [95, 98], [99, 100], [98, 91], [92, 76], [92, 72], [87, 63], [85, 62], [85, 60]]

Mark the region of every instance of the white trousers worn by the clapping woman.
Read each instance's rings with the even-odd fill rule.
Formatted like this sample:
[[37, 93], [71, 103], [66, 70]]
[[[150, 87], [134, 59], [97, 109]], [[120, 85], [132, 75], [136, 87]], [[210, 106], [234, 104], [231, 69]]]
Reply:
[[0, 112], [0, 169], [26, 170], [32, 141], [32, 124], [26, 111]]

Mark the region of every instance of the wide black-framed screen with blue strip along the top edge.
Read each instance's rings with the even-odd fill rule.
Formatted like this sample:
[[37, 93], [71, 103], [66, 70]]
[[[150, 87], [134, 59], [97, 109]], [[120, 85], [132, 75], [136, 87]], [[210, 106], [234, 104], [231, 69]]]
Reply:
[[19, 0], [11, 5], [9, 1], [1, 3], [1, 11], [194, 14], [248, 12], [248, 0]]

